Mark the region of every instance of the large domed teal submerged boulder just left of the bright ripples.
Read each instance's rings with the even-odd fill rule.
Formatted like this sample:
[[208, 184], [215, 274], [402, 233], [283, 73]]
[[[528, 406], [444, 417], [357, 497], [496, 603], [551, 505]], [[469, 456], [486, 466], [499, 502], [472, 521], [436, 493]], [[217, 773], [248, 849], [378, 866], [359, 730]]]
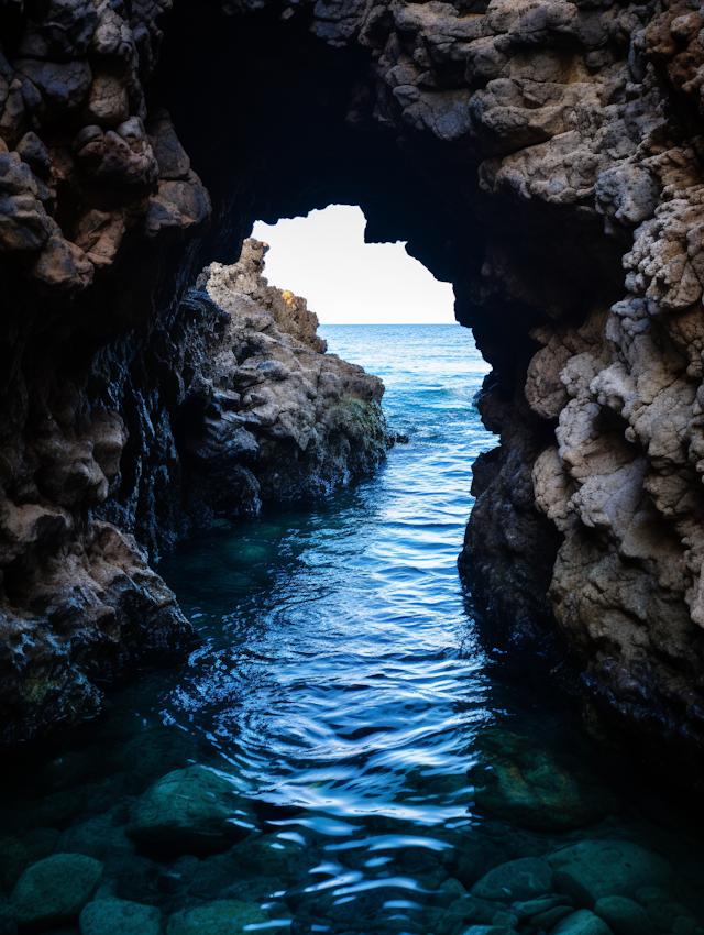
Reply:
[[157, 780], [130, 810], [127, 833], [135, 840], [177, 850], [226, 850], [250, 827], [232, 783], [205, 767], [175, 770]]

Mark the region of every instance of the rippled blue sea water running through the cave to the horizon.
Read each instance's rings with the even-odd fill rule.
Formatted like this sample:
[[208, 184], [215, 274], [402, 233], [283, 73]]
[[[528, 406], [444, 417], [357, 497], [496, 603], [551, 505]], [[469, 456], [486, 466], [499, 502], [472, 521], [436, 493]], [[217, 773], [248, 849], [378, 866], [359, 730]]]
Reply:
[[[625, 897], [644, 933], [694, 935], [704, 851], [691, 814], [480, 638], [457, 558], [472, 462], [495, 439], [476, 411], [488, 369], [470, 332], [321, 333], [384, 380], [408, 443], [323, 503], [222, 522], [162, 563], [199, 640], [111, 695], [52, 762], [6, 777], [6, 893], [22, 867], [75, 851], [105, 862], [96, 899], [156, 906], [162, 926], [222, 900], [261, 908], [222, 928], [201, 917], [204, 935], [547, 932], [554, 920], [515, 905], [546, 892], [563, 913]], [[131, 843], [139, 796], [197, 765], [229, 783], [249, 836], [213, 854], [177, 834]], [[554, 864], [575, 846], [582, 869], [548, 882], [529, 886], [512, 862]], [[496, 866], [508, 868], [498, 890], [477, 884]], [[476, 886], [483, 902], [465, 894]]]

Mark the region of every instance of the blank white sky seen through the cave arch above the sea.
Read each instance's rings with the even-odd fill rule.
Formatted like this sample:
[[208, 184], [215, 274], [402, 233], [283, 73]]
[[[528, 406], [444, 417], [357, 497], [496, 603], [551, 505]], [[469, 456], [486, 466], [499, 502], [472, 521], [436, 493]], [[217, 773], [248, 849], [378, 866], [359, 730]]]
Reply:
[[264, 275], [308, 299], [323, 324], [454, 321], [454, 294], [397, 243], [364, 243], [366, 220], [352, 205], [329, 205], [307, 218], [254, 224], [271, 245]]

